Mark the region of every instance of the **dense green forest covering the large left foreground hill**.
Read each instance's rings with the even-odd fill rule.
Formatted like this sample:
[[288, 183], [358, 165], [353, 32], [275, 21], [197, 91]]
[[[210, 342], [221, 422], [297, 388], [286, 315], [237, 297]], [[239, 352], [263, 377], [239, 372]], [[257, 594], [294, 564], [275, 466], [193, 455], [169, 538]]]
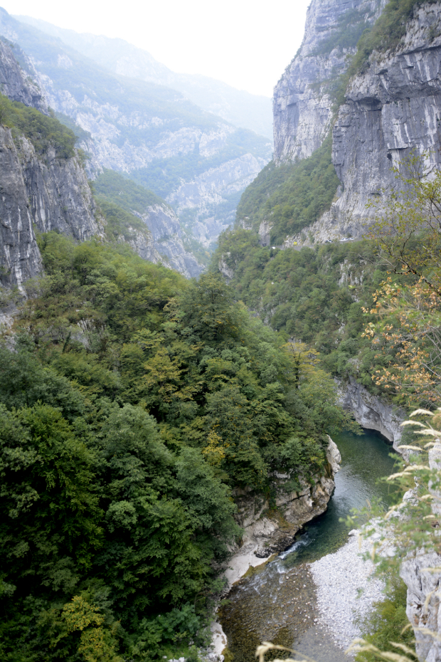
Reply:
[[0, 650], [150, 660], [204, 642], [236, 486], [326, 470], [331, 379], [236, 303], [124, 248], [39, 238], [0, 348]]

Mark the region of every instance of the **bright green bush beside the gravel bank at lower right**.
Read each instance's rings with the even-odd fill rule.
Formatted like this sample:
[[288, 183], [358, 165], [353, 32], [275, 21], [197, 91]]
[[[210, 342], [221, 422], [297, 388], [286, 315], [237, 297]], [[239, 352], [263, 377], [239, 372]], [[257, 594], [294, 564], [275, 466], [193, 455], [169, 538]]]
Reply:
[[[409, 628], [403, 632], [409, 621], [406, 616], [407, 587], [400, 577], [393, 577], [388, 587], [388, 595], [374, 604], [374, 609], [361, 622], [361, 636], [381, 651], [397, 653], [397, 647], [391, 646], [390, 641], [412, 646], [415, 635]], [[377, 656], [371, 652], [358, 653], [356, 662], [371, 662]]]

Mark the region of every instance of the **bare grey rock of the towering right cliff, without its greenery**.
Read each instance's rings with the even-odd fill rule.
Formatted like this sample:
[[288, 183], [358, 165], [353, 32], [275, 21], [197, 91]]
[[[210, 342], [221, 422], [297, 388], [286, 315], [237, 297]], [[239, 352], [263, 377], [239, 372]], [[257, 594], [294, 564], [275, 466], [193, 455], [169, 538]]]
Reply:
[[[329, 83], [346, 67], [354, 47], [329, 51], [333, 31], [351, 12], [366, 25], [382, 9], [376, 2], [313, 1], [298, 55], [275, 87], [275, 159], [303, 159], [322, 145], [332, 119]], [[346, 16], [346, 19], [345, 19]], [[326, 49], [326, 39], [329, 46]], [[326, 51], [326, 55], [321, 55]], [[415, 9], [405, 36], [395, 49], [373, 52], [366, 71], [346, 89], [332, 129], [332, 163], [341, 181], [330, 211], [308, 228], [288, 238], [286, 245], [360, 237], [373, 220], [372, 201], [386, 199], [398, 182], [399, 167], [410, 152], [427, 152], [430, 171], [440, 164], [441, 3]], [[328, 90], [328, 91], [326, 91]]]

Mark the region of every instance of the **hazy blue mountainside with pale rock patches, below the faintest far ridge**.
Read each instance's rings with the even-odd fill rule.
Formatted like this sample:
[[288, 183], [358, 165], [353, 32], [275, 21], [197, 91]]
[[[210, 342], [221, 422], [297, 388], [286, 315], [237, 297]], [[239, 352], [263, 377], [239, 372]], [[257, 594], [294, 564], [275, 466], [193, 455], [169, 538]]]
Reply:
[[270, 158], [265, 138], [203, 112], [176, 90], [110, 74], [4, 10], [0, 33], [31, 56], [49, 105], [92, 136], [80, 144], [92, 176], [102, 167], [129, 174], [185, 211], [190, 230], [206, 222], [207, 243], [233, 221], [240, 192]]

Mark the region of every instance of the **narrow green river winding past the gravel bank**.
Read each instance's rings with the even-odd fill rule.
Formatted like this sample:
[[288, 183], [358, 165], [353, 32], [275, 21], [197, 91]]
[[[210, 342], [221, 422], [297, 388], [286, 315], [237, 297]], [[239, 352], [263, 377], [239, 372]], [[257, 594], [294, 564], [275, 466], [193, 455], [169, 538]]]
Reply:
[[[324, 661], [345, 658], [331, 641], [317, 643], [323, 635], [314, 624], [316, 593], [307, 564], [344, 545], [348, 528], [340, 519], [346, 519], [352, 508], [362, 508], [374, 498], [385, 507], [392, 502], [388, 485], [378, 479], [392, 473], [394, 460], [389, 457], [391, 446], [372, 431], [362, 436], [341, 433], [334, 441], [341, 453], [341, 469], [326, 513], [305, 525], [289, 550], [237, 582], [221, 609], [234, 662], [254, 661], [255, 648], [262, 641], [289, 647], [300, 643], [302, 652], [318, 662], [317, 650]], [[277, 651], [277, 656], [283, 655]]]

